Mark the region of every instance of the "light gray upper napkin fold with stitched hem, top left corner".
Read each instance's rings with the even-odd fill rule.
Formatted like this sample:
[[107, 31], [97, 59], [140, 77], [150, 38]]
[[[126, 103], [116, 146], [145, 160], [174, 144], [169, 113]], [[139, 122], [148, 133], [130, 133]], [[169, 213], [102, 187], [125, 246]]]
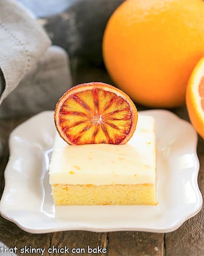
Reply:
[[35, 67], [51, 41], [34, 15], [13, 0], [0, 1], [0, 103]]

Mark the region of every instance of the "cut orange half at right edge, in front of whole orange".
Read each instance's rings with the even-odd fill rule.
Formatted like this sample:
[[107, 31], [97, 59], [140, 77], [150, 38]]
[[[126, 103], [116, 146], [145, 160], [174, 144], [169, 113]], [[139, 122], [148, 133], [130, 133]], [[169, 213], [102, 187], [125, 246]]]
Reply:
[[192, 125], [204, 138], [204, 57], [190, 76], [186, 90], [186, 105]]

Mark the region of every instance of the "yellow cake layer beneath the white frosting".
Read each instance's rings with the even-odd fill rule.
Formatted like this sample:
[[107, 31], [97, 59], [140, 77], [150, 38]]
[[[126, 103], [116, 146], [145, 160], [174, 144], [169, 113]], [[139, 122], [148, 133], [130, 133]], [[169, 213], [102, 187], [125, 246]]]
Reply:
[[52, 184], [55, 205], [157, 204], [155, 184]]

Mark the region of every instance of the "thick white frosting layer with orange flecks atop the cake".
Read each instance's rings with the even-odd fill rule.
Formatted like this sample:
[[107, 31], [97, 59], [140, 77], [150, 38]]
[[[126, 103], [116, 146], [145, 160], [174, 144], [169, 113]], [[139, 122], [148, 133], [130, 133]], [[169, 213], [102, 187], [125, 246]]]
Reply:
[[50, 184], [154, 184], [155, 132], [151, 116], [138, 116], [124, 145], [68, 145], [56, 131], [49, 166]]

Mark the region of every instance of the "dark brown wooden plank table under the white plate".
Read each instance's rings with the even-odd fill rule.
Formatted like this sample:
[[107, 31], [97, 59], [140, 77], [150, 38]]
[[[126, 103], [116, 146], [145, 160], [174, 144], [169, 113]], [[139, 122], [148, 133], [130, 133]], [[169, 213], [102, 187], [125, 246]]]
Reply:
[[[97, 73], [97, 75], [95, 75]], [[100, 70], [89, 72], [86, 75], [74, 74], [74, 84], [90, 81], [109, 82], [109, 78]], [[99, 80], [99, 78], [101, 78]], [[137, 106], [139, 110], [141, 108]], [[183, 119], [188, 120], [188, 114], [185, 107], [173, 109]], [[10, 132], [20, 123], [24, 122], [30, 116], [11, 117], [0, 120], [0, 141], [3, 145], [0, 157], [0, 197], [4, 189], [3, 172], [8, 161], [8, 137]], [[204, 192], [204, 140], [199, 138], [198, 156], [200, 160], [199, 187]], [[47, 234], [31, 234], [21, 230], [14, 223], [5, 220], [0, 216], [0, 242], [8, 247], [14, 246], [22, 248], [26, 246], [49, 248], [64, 247], [65, 245], [79, 248], [104, 247], [107, 253], [103, 255], [168, 255], [168, 256], [200, 256], [204, 255], [204, 210], [186, 221], [179, 229], [171, 233], [148, 233], [148, 232], [88, 232], [88, 231], [64, 231]], [[1, 254], [1, 253], [0, 253]], [[25, 254], [19, 254], [25, 255]], [[40, 254], [29, 254], [40, 255]], [[47, 252], [44, 255], [49, 255]], [[65, 255], [65, 254], [51, 254]], [[71, 254], [70, 255], [77, 255]], [[83, 254], [96, 255], [96, 254]]]

